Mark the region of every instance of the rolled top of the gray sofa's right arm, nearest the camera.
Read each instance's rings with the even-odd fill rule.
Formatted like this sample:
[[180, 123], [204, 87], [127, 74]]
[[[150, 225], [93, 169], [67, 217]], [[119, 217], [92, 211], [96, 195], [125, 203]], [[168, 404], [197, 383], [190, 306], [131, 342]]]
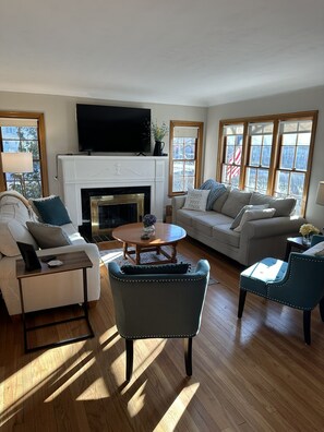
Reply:
[[250, 220], [243, 225], [241, 241], [251, 238], [275, 237], [298, 233], [305, 219], [296, 216], [272, 217], [269, 219]]

